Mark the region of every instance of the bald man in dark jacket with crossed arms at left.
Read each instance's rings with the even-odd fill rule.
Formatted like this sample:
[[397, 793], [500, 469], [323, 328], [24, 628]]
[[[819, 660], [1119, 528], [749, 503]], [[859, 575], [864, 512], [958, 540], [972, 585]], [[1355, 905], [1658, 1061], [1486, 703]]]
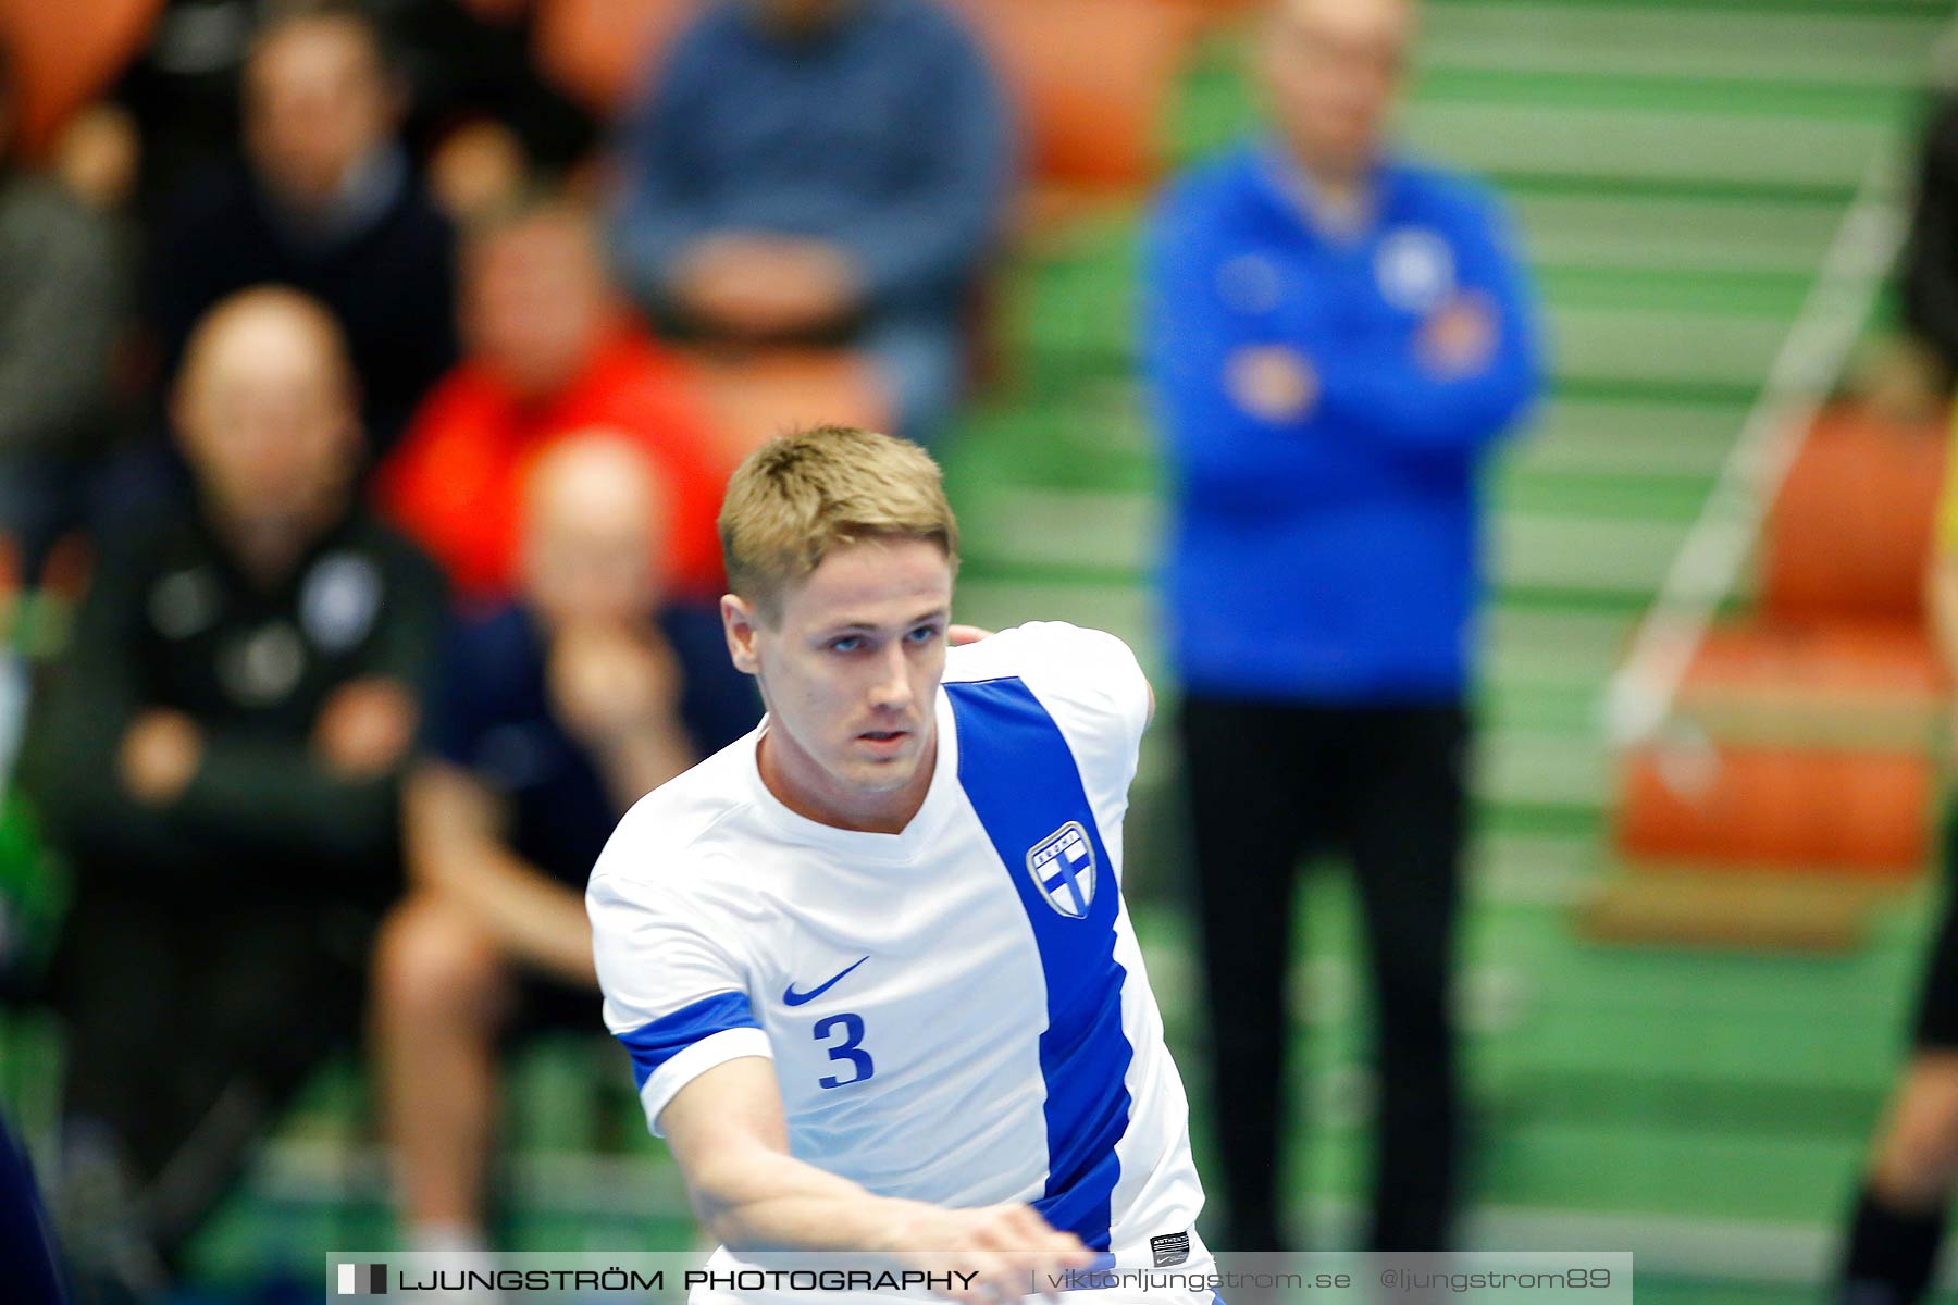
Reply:
[[399, 892], [397, 767], [441, 642], [435, 567], [352, 491], [345, 342], [262, 288], [192, 333], [198, 493], [104, 546], [35, 730], [74, 867], [59, 963], [63, 1207], [84, 1274], [153, 1289], [255, 1137], [358, 1029]]

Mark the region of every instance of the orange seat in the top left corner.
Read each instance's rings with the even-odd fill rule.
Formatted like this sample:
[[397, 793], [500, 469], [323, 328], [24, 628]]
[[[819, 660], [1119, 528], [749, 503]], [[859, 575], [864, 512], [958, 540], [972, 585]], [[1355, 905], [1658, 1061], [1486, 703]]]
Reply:
[[0, 41], [20, 78], [20, 147], [43, 158], [69, 117], [143, 45], [163, 0], [0, 0]]

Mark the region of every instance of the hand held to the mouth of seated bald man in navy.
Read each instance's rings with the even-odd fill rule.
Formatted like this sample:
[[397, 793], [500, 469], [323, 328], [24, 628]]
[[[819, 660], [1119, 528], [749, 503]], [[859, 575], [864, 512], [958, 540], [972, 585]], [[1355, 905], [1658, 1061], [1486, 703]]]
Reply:
[[650, 632], [566, 626], [550, 642], [544, 675], [558, 722], [591, 747], [666, 728], [679, 712], [679, 661]]

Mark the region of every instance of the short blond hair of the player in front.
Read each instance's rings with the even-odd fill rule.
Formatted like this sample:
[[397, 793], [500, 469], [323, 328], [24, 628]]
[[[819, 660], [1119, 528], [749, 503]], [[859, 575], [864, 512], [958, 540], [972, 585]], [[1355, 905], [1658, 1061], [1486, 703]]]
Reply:
[[728, 585], [768, 620], [781, 595], [836, 548], [922, 540], [959, 563], [944, 477], [916, 444], [856, 427], [813, 427], [748, 454], [721, 501]]

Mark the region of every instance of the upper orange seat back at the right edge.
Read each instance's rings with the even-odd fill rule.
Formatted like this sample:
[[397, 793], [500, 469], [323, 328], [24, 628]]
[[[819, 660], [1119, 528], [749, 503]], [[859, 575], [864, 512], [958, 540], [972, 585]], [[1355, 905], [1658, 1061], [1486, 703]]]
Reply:
[[1825, 411], [1768, 518], [1762, 614], [1919, 622], [1946, 442], [1942, 425]]

